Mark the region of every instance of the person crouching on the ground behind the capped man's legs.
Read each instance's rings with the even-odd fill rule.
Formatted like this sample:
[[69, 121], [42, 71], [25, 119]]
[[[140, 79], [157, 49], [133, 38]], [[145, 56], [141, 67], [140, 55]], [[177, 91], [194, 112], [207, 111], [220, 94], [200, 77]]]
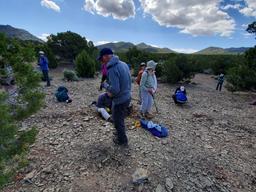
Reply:
[[97, 107], [97, 112], [103, 117], [106, 121], [113, 122], [111, 115], [112, 108], [112, 98], [110, 93], [102, 93], [98, 97], [98, 101], [92, 102], [92, 105]]

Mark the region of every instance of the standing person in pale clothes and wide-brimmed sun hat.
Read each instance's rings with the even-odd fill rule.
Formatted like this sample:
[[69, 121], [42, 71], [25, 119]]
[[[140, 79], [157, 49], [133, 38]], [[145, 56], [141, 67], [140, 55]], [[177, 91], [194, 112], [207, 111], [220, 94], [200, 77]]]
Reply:
[[153, 60], [147, 62], [146, 70], [143, 72], [140, 81], [141, 91], [141, 116], [152, 119], [153, 115], [150, 114], [153, 104], [153, 97], [157, 89], [157, 79], [155, 75], [157, 63]]

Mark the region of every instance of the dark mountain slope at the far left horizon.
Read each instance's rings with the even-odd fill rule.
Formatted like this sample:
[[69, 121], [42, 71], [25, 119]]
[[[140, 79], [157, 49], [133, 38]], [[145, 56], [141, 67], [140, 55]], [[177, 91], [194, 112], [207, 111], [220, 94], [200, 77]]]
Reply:
[[24, 29], [15, 28], [10, 25], [0, 25], [0, 33], [4, 33], [7, 37], [10, 37], [10, 38], [37, 41], [40, 43], [44, 42], [43, 40], [29, 33], [28, 31]]

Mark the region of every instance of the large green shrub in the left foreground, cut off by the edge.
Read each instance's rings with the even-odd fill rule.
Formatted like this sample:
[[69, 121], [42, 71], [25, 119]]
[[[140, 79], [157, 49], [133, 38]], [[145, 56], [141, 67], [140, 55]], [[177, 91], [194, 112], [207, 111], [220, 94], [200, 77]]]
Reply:
[[[13, 68], [16, 94], [0, 89], [0, 188], [9, 182], [15, 172], [26, 165], [29, 145], [35, 141], [37, 130], [20, 132], [20, 120], [29, 117], [43, 104], [40, 75], [31, 64], [35, 59], [34, 47], [21, 44], [0, 34], [0, 68]], [[1, 74], [0, 74], [1, 78]], [[12, 102], [10, 102], [12, 101]]]

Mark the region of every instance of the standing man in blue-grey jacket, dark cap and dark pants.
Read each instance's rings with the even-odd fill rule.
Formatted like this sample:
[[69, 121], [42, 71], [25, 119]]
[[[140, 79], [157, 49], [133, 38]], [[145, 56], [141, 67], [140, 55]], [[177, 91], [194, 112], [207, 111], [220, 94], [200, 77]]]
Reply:
[[112, 115], [117, 132], [114, 143], [118, 145], [128, 145], [125, 132], [126, 110], [131, 102], [131, 76], [126, 63], [119, 60], [109, 48], [103, 48], [97, 58], [102, 63], [107, 63], [107, 82], [102, 87], [110, 93], [113, 99]]

